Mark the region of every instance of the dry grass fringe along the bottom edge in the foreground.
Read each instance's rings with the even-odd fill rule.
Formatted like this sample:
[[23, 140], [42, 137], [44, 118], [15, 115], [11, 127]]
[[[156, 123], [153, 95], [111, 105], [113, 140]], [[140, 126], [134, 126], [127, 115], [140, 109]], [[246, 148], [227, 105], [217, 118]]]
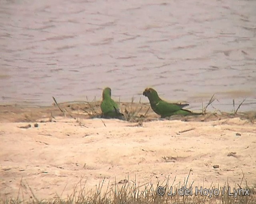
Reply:
[[[191, 169], [190, 169], [191, 172]], [[102, 180], [95, 190], [86, 191], [86, 182], [81, 179], [74, 191], [67, 198], [56, 195], [48, 200], [39, 200], [33, 190], [26, 183], [21, 181], [20, 195], [17, 198], [2, 200], [4, 204], [255, 204], [256, 196], [253, 188], [249, 188], [243, 176], [241, 183], [231, 188], [228, 182], [224, 186], [202, 186], [202, 193], [196, 189], [201, 186], [193, 186], [194, 182], [189, 182], [190, 172], [184, 182], [176, 182], [176, 177], [172, 182], [168, 179], [164, 182], [158, 181], [156, 185], [148, 182], [140, 184], [135, 180], [127, 179], [114, 184], [106, 183]], [[244, 187], [242, 184], [244, 183]], [[102, 187], [107, 185], [105, 191]], [[29, 200], [24, 200], [22, 188], [30, 190]], [[172, 191], [171, 191], [172, 189]], [[204, 190], [207, 189], [207, 190]], [[230, 189], [230, 191], [228, 190]], [[242, 190], [243, 189], [243, 190]], [[248, 190], [248, 194], [244, 190]], [[240, 190], [241, 194], [235, 196], [234, 190]], [[172, 194], [170, 194], [172, 192]], [[176, 192], [176, 194], [174, 194]], [[208, 192], [208, 193], [207, 193]], [[212, 193], [210, 193], [212, 192]], [[215, 194], [214, 194], [215, 192]], [[244, 195], [243, 195], [244, 194]], [[22, 197], [22, 198], [21, 198]]]

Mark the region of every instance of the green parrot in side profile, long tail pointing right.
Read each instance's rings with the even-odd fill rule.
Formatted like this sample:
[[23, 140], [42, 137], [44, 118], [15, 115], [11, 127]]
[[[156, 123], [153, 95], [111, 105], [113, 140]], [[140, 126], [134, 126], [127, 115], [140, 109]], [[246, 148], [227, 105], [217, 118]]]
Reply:
[[161, 98], [159, 98], [156, 90], [153, 88], [146, 88], [143, 92], [143, 95], [148, 97], [148, 100], [150, 102], [150, 106], [152, 110], [161, 116], [161, 118], [165, 118], [172, 115], [198, 115], [200, 113], [193, 113], [190, 110], [184, 110], [182, 109], [185, 106], [188, 106], [189, 104], [173, 104], [168, 103]]

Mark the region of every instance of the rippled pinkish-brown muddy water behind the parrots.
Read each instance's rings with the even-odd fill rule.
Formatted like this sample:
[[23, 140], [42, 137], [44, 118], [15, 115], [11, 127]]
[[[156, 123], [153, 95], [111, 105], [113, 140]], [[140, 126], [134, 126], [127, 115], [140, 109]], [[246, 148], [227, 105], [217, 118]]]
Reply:
[[254, 0], [0, 0], [0, 103], [129, 101], [256, 109]]

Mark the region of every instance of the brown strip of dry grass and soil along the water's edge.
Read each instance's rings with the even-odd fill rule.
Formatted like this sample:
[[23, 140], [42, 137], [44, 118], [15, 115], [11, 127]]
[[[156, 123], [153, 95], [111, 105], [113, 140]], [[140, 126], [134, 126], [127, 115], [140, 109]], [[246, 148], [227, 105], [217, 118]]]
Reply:
[[[101, 101], [96, 101], [96, 98], [91, 102], [88, 101], [73, 101], [57, 103], [56, 99], [53, 97], [54, 103], [49, 107], [20, 107], [17, 105], [0, 106], [0, 121], [8, 122], [54, 122], [56, 116], [65, 116], [74, 118], [77, 122], [80, 119], [88, 118], [101, 118], [100, 103]], [[254, 123], [256, 121], [256, 112], [250, 111], [246, 113], [238, 113], [238, 109], [242, 106], [243, 100], [239, 106], [235, 109], [235, 104], [233, 100], [234, 110], [230, 113], [222, 112], [217, 110], [213, 106], [214, 101], [218, 99], [214, 98], [214, 94], [210, 98], [206, 106], [202, 103], [202, 115], [201, 116], [171, 116], [165, 118], [164, 120], [183, 120], [183, 121], [209, 121], [209, 120], [220, 120], [223, 118], [234, 118], [240, 117], [242, 119], [247, 119]], [[155, 114], [150, 107], [149, 103], [134, 102], [134, 97], [132, 97], [131, 102], [120, 102], [118, 101], [120, 111], [124, 114], [121, 120], [126, 120], [128, 122], [138, 122], [138, 126], [142, 126], [144, 121], [158, 120], [159, 116]], [[216, 111], [207, 112], [207, 108], [211, 106]], [[47, 118], [47, 120], [42, 120], [42, 118]], [[104, 124], [104, 122], [102, 121]], [[105, 124], [104, 124], [105, 125]]]

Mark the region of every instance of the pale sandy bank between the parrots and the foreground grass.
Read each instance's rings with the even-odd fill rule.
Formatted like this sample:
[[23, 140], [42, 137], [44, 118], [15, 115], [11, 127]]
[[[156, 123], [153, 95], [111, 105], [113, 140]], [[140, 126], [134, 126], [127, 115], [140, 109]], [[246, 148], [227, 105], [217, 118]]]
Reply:
[[56, 106], [0, 106], [1, 199], [29, 198], [31, 190], [38, 199], [66, 198], [80, 180], [88, 190], [103, 179], [106, 187], [124, 179], [156, 184], [176, 177], [176, 185], [190, 169], [195, 186], [227, 180], [244, 186], [244, 173], [248, 186], [256, 187], [254, 115], [160, 120], [150, 109], [150, 119], [128, 122], [90, 119], [77, 106], [62, 106], [78, 113], [66, 117]]

